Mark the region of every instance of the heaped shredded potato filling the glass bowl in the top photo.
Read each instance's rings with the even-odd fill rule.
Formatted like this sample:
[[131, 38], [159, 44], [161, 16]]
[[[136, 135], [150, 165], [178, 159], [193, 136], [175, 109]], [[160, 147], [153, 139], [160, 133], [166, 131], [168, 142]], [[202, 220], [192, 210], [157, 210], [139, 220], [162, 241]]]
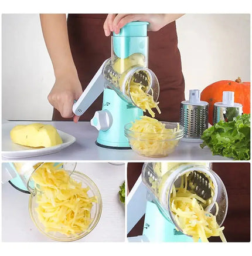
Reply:
[[166, 156], [179, 143], [175, 136], [179, 124], [175, 129], [167, 129], [164, 123], [143, 116], [132, 123], [130, 130], [132, 133], [129, 135], [129, 141], [132, 149], [145, 156]]

